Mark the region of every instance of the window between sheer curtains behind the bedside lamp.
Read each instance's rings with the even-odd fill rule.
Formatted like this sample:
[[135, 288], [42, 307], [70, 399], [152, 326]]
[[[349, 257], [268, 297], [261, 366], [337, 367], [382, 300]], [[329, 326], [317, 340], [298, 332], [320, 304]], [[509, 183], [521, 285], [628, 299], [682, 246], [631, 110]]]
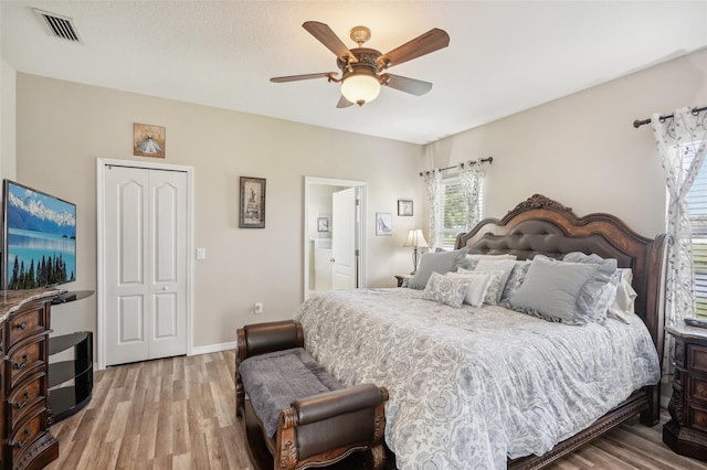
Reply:
[[[482, 183], [483, 184], [483, 183]], [[483, 203], [483, 185], [481, 191], [482, 197], [478, 201], [478, 213], [482, 213]], [[456, 177], [445, 178], [442, 180], [442, 203], [440, 204], [440, 221], [437, 227], [437, 244], [445, 249], [454, 248], [456, 236], [466, 232], [466, 214], [468, 214], [468, 205], [462, 194], [462, 184]], [[707, 261], [707, 260], [706, 260]]]

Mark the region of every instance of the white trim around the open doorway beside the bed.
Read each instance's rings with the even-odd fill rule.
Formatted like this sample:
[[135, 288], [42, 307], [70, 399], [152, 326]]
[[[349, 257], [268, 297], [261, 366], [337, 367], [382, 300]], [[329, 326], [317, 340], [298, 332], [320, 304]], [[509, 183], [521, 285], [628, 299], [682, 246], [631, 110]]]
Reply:
[[367, 258], [368, 250], [366, 244], [366, 209], [367, 209], [367, 183], [365, 181], [356, 181], [356, 180], [339, 180], [333, 178], [319, 178], [319, 177], [305, 177], [305, 210], [304, 210], [304, 275], [303, 275], [303, 299], [307, 300], [309, 298], [309, 238], [312, 238], [312, 234], [309, 234], [309, 186], [314, 184], [320, 184], [326, 186], [342, 186], [342, 188], [358, 188], [359, 189], [359, 211], [358, 211], [358, 220], [357, 220], [357, 234], [356, 239], [358, 241], [358, 273], [357, 273], [357, 281], [359, 288], [367, 286]]

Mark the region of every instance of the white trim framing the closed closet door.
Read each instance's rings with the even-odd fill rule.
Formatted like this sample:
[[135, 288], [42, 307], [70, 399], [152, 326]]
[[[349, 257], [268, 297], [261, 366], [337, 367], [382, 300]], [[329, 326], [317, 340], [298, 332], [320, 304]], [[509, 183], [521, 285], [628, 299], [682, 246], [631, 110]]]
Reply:
[[104, 224], [105, 213], [105, 172], [108, 167], [139, 168], [143, 170], [180, 171], [187, 173], [187, 355], [193, 354], [193, 260], [191, 254], [194, 253], [193, 238], [193, 211], [194, 211], [194, 179], [193, 167], [167, 163], [150, 163], [136, 160], [96, 159], [96, 353], [98, 355], [98, 370], [106, 368], [106, 298], [105, 298], [105, 237]]

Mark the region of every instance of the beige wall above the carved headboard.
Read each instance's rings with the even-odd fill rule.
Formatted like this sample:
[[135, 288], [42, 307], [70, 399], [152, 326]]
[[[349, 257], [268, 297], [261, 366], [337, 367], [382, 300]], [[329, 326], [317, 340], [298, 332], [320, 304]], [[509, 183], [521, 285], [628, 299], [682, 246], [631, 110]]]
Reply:
[[540, 193], [578, 215], [610, 212], [642, 235], [665, 231], [665, 184], [651, 126], [634, 119], [707, 105], [707, 51], [452, 136], [423, 168], [494, 157], [485, 214], [503, 217]]

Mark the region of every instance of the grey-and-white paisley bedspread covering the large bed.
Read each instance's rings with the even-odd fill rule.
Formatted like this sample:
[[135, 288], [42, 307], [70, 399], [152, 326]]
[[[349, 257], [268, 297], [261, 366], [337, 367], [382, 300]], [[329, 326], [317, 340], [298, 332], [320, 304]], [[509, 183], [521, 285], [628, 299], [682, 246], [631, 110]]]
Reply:
[[335, 377], [388, 388], [386, 442], [401, 470], [506, 468], [659, 380], [637, 317], [573, 327], [421, 296], [339, 290], [295, 316], [305, 348]]

